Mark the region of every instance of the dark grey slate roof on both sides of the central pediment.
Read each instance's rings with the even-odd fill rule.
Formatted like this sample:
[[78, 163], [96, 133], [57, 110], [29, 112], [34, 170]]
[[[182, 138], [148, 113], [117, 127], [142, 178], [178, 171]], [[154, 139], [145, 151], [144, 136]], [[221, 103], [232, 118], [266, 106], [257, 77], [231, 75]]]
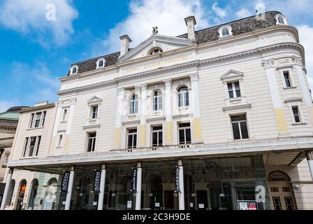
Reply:
[[[256, 20], [256, 16], [251, 16], [249, 18], [244, 18], [241, 20], [235, 20], [233, 22], [228, 22], [223, 25], [218, 25], [215, 27], [209, 27], [206, 29], [201, 29], [196, 31], [196, 41], [201, 43], [208, 43], [210, 41], [217, 41], [219, 39], [219, 28], [224, 25], [230, 25], [232, 27], [233, 36], [237, 36], [240, 34], [246, 34], [252, 31], [256, 31], [258, 29], [264, 29], [266, 27], [276, 26], [275, 16], [277, 14], [282, 14], [277, 11], [269, 11], [265, 13], [265, 20]], [[182, 34], [181, 38], [187, 38], [187, 34]], [[110, 66], [117, 63], [119, 59], [119, 52], [112, 53], [110, 55], [104, 55], [101, 57], [96, 57], [93, 59], [88, 59], [83, 62], [78, 62], [73, 65], [78, 66], [78, 73], [84, 73], [86, 71], [92, 71], [96, 69], [96, 61], [100, 58], [105, 59], [105, 66]], [[70, 75], [68, 71], [67, 76]]]

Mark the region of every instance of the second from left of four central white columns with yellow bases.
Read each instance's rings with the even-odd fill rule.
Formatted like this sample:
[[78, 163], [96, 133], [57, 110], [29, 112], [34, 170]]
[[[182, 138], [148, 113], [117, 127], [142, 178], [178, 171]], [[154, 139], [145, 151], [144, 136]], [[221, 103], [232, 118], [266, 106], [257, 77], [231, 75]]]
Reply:
[[147, 84], [140, 85], [140, 126], [139, 126], [139, 147], [146, 147], [145, 125], [147, 115]]

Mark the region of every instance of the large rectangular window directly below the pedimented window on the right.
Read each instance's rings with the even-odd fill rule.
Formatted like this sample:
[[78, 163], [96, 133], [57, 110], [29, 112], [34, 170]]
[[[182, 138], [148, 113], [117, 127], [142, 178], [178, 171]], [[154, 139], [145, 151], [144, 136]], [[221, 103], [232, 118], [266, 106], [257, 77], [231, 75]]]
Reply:
[[249, 139], [247, 118], [245, 114], [231, 116], [231, 125], [233, 126], [233, 139]]

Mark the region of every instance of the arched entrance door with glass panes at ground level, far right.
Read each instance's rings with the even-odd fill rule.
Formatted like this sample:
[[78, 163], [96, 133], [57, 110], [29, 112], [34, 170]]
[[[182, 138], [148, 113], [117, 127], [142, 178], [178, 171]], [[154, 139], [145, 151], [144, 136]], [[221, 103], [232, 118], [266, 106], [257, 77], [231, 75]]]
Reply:
[[273, 209], [297, 210], [296, 199], [289, 176], [286, 176], [282, 172], [270, 174], [268, 188], [270, 190], [270, 202]]

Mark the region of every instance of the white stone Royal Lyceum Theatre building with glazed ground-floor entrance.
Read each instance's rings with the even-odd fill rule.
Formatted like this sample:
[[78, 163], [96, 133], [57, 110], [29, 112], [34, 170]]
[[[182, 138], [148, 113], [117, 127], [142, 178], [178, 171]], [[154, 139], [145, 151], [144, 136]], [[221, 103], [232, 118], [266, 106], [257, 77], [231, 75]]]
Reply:
[[[154, 28], [133, 48], [121, 36], [120, 52], [71, 65], [55, 108], [24, 112], [1, 209], [20, 169], [61, 176], [43, 183], [54, 187], [39, 209], [313, 209], [297, 29], [279, 12], [198, 31], [194, 16], [182, 22], [187, 34]], [[49, 127], [32, 125], [45, 111]]]

